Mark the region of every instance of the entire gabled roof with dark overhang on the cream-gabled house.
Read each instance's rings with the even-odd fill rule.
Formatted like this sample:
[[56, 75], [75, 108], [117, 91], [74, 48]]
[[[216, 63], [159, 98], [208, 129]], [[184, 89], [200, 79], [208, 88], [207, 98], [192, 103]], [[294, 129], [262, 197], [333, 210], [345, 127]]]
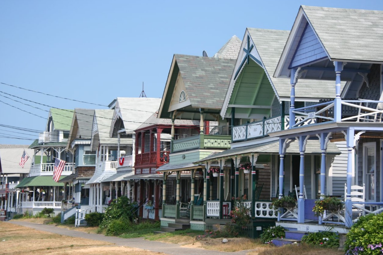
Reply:
[[[176, 102], [175, 108], [220, 110], [233, 72], [234, 59], [178, 55], [173, 56], [159, 118], [170, 118], [169, 112], [178, 74], [182, 78], [187, 100]], [[175, 99], [178, 95], [174, 96]], [[177, 100], [176, 100], [177, 101]], [[177, 110], [177, 109], [174, 109]]]

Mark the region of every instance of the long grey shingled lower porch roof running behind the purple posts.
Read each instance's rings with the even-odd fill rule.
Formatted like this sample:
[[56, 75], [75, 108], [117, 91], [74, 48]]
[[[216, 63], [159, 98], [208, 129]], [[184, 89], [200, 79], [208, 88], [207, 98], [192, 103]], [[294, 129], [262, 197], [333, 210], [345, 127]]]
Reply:
[[[262, 144], [255, 144], [250, 146], [237, 147], [233, 149], [228, 149], [223, 152], [219, 152], [214, 155], [210, 155], [205, 159], [196, 161], [205, 162], [213, 159], [219, 159], [224, 157], [233, 157], [235, 155], [250, 155], [250, 154], [279, 154], [279, 141], [278, 142], [266, 142]], [[319, 140], [308, 140], [306, 144], [305, 154], [321, 154], [321, 144]], [[340, 154], [340, 150], [336, 144], [329, 142], [327, 144], [327, 154]], [[298, 140], [290, 140], [286, 144], [286, 154], [299, 154], [299, 144]]]

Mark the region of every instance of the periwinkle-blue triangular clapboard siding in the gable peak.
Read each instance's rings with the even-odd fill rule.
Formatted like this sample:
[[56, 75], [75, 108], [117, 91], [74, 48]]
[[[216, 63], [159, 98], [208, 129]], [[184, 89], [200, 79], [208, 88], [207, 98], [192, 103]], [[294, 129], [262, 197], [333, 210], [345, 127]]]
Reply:
[[311, 26], [306, 25], [300, 44], [298, 45], [293, 61], [291, 62], [291, 67], [298, 67], [301, 64], [313, 62], [326, 56], [327, 54], [321, 43], [319, 43], [313, 29]]

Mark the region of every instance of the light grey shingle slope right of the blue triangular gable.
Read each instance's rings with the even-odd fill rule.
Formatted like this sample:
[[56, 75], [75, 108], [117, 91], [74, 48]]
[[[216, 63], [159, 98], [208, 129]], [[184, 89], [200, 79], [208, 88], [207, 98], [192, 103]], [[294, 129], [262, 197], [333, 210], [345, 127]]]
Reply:
[[331, 59], [383, 60], [383, 11], [302, 8]]

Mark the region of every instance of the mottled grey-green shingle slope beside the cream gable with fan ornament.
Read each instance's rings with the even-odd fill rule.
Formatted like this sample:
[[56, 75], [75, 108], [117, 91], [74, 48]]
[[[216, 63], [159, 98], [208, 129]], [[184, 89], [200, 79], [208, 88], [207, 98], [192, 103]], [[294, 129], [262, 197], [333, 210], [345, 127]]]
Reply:
[[234, 59], [174, 55], [193, 108], [221, 109]]

